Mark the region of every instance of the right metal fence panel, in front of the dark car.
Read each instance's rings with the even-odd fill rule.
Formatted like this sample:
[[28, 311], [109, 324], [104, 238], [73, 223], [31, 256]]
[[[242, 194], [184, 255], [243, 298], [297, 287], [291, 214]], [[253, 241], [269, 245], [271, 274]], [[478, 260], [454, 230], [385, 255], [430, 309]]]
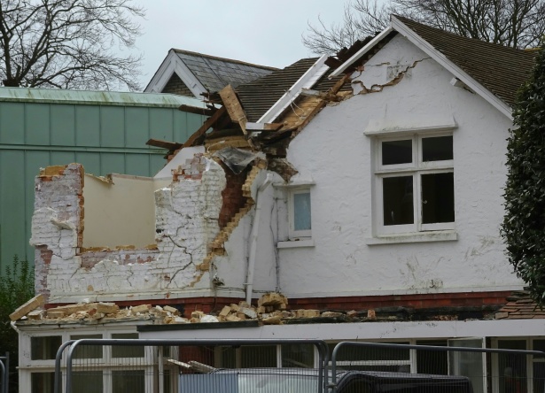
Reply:
[[442, 345], [338, 343], [331, 352], [330, 388], [339, 393], [544, 391], [544, 352], [470, 345], [484, 342], [477, 338], [445, 340]]

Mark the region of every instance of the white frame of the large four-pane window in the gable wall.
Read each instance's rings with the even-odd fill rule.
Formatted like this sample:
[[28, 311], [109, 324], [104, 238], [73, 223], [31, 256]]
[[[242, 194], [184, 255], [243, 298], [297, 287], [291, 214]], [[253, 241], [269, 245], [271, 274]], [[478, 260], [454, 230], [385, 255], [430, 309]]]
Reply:
[[[455, 222], [424, 224], [422, 222], [421, 176], [432, 173], [454, 173], [454, 159], [442, 161], [422, 161], [422, 140], [424, 138], [450, 136], [452, 132], [441, 133], [403, 133], [394, 136], [377, 136], [374, 141], [374, 189], [373, 203], [376, 235], [415, 234], [428, 231], [454, 230]], [[383, 165], [382, 143], [390, 141], [412, 141], [412, 162], [410, 164]], [[453, 146], [454, 149], [454, 146]], [[454, 153], [454, 151], [453, 151]], [[406, 225], [384, 225], [383, 179], [388, 177], [412, 176], [413, 178], [413, 217], [414, 222]]]

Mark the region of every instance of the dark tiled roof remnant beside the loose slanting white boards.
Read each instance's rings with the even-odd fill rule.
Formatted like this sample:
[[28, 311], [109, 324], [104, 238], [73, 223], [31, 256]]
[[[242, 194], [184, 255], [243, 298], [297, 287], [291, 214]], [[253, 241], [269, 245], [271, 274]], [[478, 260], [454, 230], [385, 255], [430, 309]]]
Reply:
[[[239, 85], [237, 94], [244, 106], [247, 119], [249, 121], [259, 120], [315, 64], [317, 59], [302, 58], [282, 70]], [[323, 77], [315, 83], [313, 89], [327, 91], [340, 79], [338, 77], [329, 80], [327, 75], [329, 72], [324, 73]]]

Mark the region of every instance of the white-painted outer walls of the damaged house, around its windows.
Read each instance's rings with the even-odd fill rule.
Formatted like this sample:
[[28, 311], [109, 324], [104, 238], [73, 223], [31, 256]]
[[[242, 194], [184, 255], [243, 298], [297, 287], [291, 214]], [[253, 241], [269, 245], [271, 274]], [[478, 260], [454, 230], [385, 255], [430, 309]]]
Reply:
[[[32, 242], [54, 250], [47, 276], [52, 298], [244, 297], [248, 275], [253, 276], [253, 298], [269, 291], [298, 298], [522, 289], [499, 235], [512, 123], [453, 78], [407, 38], [393, 37], [364, 71], [354, 73], [354, 95], [325, 107], [292, 140], [287, 159], [299, 173], [290, 184], [275, 174], [273, 186], [258, 193], [267, 175], [261, 170], [251, 192], [261, 206], [260, 222], [254, 222], [253, 205], [232, 229], [224, 255], [211, 260], [209, 273], [199, 275], [187, 266], [203, 263], [219, 232], [226, 180], [213, 160], [206, 161], [202, 180], [156, 192], [160, 253], [143, 264], [105, 258], [92, 268], [80, 267], [72, 221], [58, 227], [57, 213], [40, 206], [36, 220], [54, 225], [50, 230], [36, 224]], [[455, 228], [379, 234], [373, 220], [376, 137], [437, 131], [451, 133], [454, 140]], [[179, 156], [191, 158], [195, 151]], [[166, 171], [179, 165], [174, 160]], [[156, 180], [165, 175], [161, 171]], [[301, 188], [310, 190], [312, 238], [290, 241], [288, 196]], [[248, 274], [255, 226], [257, 252]], [[55, 231], [61, 243], [38, 238]]]

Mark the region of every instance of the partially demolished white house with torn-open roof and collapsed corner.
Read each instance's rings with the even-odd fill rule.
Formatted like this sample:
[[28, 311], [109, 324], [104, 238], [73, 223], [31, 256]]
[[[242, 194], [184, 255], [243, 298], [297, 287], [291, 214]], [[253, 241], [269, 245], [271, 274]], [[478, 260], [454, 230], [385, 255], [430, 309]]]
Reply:
[[[532, 52], [393, 16], [336, 58], [210, 95], [220, 109], [153, 179], [44, 169], [31, 243], [51, 316], [18, 320], [21, 345], [218, 336], [206, 316], [224, 338], [542, 347], [545, 315], [517, 308], [531, 301], [499, 235], [511, 105], [532, 66]], [[101, 302], [144, 308], [116, 319]], [[21, 353], [31, 391], [45, 363]], [[417, 371], [417, 356], [397, 364]], [[472, 366], [502, 373], [494, 356]]]

